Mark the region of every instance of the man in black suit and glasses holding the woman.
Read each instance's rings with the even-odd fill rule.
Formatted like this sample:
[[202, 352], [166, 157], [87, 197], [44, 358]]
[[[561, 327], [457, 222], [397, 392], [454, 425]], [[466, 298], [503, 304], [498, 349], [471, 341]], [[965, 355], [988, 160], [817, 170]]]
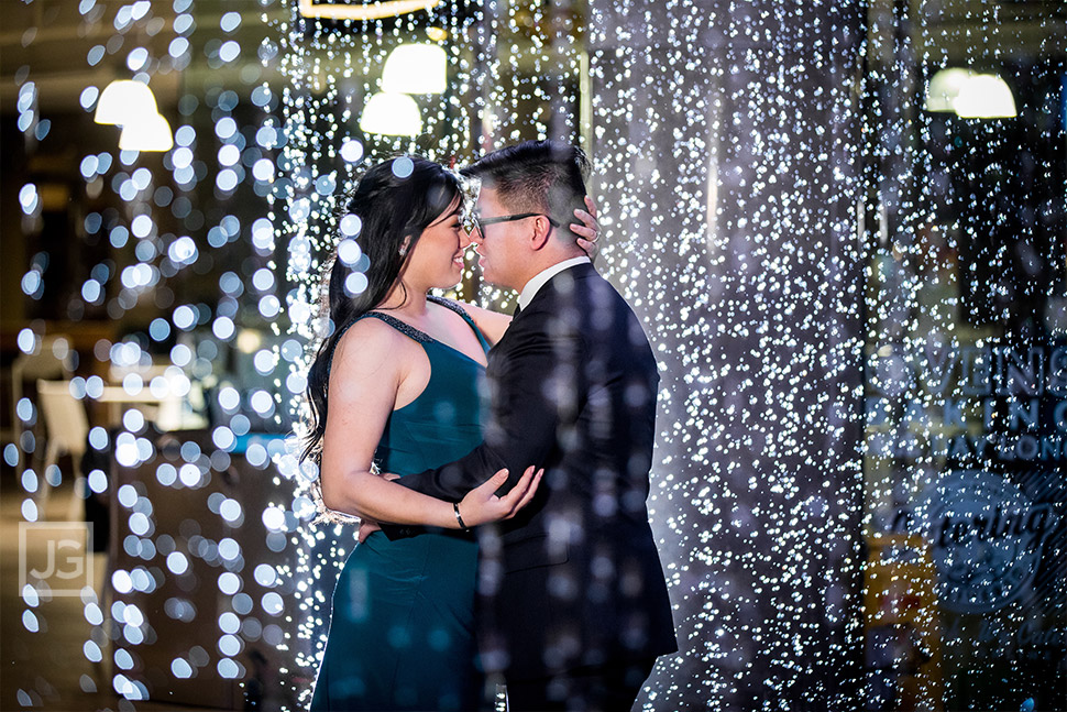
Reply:
[[488, 354], [484, 443], [399, 480], [458, 502], [501, 468], [502, 491], [544, 468], [529, 506], [479, 536], [483, 665], [504, 673], [514, 711], [629, 710], [657, 656], [678, 649], [646, 507], [656, 360], [561, 228], [584, 207], [587, 171], [579, 149], [546, 141], [465, 169], [482, 182], [479, 264], [519, 308]]

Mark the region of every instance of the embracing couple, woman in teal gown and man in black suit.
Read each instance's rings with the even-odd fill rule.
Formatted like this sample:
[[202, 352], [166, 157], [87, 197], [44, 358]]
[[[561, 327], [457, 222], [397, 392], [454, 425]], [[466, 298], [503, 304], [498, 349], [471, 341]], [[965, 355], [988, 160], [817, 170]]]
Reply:
[[[421, 158], [372, 167], [348, 206], [367, 284], [351, 294], [339, 256], [307, 454], [365, 540], [311, 710], [488, 709], [501, 679], [517, 712], [629, 710], [676, 649], [646, 507], [656, 361], [585, 251], [579, 149], [527, 142], [464, 173], [470, 232], [458, 179]], [[427, 295], [471, 242], [519, 293], [513, 317]]]

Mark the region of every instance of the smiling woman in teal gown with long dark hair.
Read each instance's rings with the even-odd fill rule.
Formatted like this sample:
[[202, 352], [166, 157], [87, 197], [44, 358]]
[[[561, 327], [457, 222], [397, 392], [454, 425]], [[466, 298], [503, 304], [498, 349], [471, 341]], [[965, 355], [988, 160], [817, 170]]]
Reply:
[[[507, 474], [498, 472], [459, 503], [391, 481], [482, 439], [485, 357], [510, 317], [427, 296], [461, 278], [462, 207], [451, 173], [409, 156], [370, 168], [348, 205], [359, 234], [341, 241], [330, 273], [333, 332], [308, 374], [305, 457], [319, 465], [329, 510], [425, 529], [396, 539], [375, 532], [345, 561], [314, 712], [486, 704], [473, 629], [477, 547], [466, 529], [513, 516], [540, 473], [531, 467], [498, 497]], [[576, 215], [584, 226], [572, 229], [595, 238], [594, 218]]]

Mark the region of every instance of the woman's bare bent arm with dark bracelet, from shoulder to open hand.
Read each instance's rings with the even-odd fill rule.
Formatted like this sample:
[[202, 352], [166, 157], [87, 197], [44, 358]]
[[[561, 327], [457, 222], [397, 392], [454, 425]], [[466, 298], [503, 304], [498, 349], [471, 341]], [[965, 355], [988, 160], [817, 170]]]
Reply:
[[[333, 354], [329, 412], [322, 437], [322, 503], [380, 522], [460, 528], [450, 502], [420, 494], [371, 472], [385, 423], [399, 402], [413, 401], [429, 380], [429, 361], [414, 341], [377, 319], [364, 319], [341, 338]], [[495, 496], [497, 473], [460, 503], [466, 526], [514, 516], [537, 490], [540, 475], [524, 473], [526, 490]], [[499, 480], [499, 482], [496, 482]], [[516, 488], [519, 489], [519, 488]]]

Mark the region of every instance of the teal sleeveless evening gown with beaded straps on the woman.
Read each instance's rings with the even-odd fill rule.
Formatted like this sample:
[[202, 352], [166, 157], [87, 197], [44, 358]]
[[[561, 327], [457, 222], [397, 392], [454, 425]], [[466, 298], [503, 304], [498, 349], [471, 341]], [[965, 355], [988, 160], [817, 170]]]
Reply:
[[[459, 313], [488, 350], [460, 307], [433, 300]], [[422, 472], [474, 449], [482, 441], [484, 366], [388, 315], [366, 317], [418, 341], [431, 369], [422, 393], [385, 425], [374, 456], [382, 472]], [[349, 556], [333, 592], [311, 712], [483, 706], [474, 635], [477, 545], [470, 533], [420, 532], [396, 540], [375, 532]]]

